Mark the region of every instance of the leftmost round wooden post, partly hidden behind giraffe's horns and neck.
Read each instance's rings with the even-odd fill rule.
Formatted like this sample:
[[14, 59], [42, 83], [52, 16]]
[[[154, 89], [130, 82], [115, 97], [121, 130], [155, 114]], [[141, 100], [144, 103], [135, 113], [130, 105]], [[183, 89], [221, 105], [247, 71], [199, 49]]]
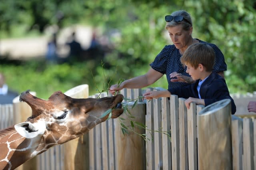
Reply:
[[[36, 96], [36, 92], [30, 91], [30, 94]], [[13, 118], [14, 125], [25, 122], [32, 115], [32, 109], [26, 102], [20, 102], [20, 96], [13, 99]], [[20, 165], [16, 170], [36, 170], [36, 157]]]

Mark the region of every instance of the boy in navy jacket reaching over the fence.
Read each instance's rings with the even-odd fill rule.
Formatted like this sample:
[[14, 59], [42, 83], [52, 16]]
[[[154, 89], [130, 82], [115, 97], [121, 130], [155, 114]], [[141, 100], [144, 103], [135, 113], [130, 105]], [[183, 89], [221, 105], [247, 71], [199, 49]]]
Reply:
[[208, 106], [222, 99], [230, 99], [231, 112], [232, 114], [236, 112], [236, 105], [230, 97], [226, 81], [212, 71], [215, 61], [215, 53], [212, 47], [205, 43], [194, 43], [186, 49], [180, 61], [183, 65], [186, 65], [186, 72], [196, 82], [185, 87], [164, 91], [147, 91], [143, 94], [145, 99], [170, 97], [171, 94], [178, 95], [178, 97], [186, 99], [185, 105], [188, 109], [191, 102]]

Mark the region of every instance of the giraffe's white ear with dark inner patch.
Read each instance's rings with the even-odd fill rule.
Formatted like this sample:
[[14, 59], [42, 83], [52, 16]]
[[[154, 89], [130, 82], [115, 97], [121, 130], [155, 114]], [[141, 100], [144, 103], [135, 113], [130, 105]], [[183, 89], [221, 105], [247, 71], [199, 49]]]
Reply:
[[14, 128], [21, 136], [25, 138], [34, 138], [36, 136], [42, 136], [46, 130], [46, 126], [42, 122], [23, 122], [14, 125]]

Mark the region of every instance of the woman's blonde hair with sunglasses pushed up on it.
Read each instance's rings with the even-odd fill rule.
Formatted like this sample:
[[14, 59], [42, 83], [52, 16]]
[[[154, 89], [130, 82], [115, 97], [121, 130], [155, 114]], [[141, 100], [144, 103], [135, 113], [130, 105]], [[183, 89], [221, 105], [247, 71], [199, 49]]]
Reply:
[[179, 11], [172, 12], [171, 16], [183, 16], [190, 23], [188, 23], [186, 20], [182, 20], [182, 22], [176, 22], [176, 21], [172, 20], [171, 22], [166, 22], [166, 26], [165, 26], [166, 29], [168, 27], [178, 26], [180, 24], [182, 25], [182, 28], [186, 31], [188, 31], [189, 28], [192, 27], [192, 20], [191, 20], [190, 14], [188, 14], [188, 12], [186, 12], [184, 10], [179, 10]]

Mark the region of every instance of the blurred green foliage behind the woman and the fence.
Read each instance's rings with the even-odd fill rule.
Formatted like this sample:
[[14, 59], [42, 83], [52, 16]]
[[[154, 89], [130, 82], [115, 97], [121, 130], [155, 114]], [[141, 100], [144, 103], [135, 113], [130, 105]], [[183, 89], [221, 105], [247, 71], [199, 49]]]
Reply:
[[[0, 37], [42, 36], [49, 25], [60, 29], [74, 24], [99, 27], [112, 37], [114, 50], [104, 57], [72, 64], [48, 64], [44, 59], [9, 61], [0, 71], [11, 89], [27, 89], [47, 99], [54, 91], [88, 84], [90, 95], [120, 78], [142, 75], [171, 44], [164, 16], [186, 10], [192, 16], [194, 38], [215, 43], [224, 53], [230, 93], [256, 91], [256, 2], [253, 0], [0, 0]], [[102, 61], [102, 62], [101, 62]], [[102, 66], [103, 63], [103, 66]], [[151, 87], [167, 88], [165, 75]]]

